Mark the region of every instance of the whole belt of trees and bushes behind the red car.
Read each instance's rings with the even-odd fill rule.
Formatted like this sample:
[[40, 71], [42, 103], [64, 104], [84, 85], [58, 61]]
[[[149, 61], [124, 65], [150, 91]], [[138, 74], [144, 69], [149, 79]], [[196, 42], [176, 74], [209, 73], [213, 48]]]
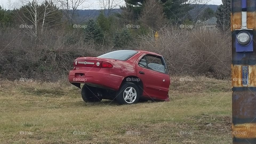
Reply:
[[[212, 51], [223, 55], [221, 61], [230, 65], [230, 46], [224, 41], [230, 37], [225, 33], [230, 29], [230, 1], [223, 0], [214, 11], [202, 0], [126, 0], [125, 5], [99, 0], [102, 10], [98, 16], [80, 19], [79, 11], [90, 7], [87, 1], [20, 3], [15, 9], [0, 7], [0, 77], [18, 78], [22, 74], [56, 80], [72, 68], [75, 58], [118, 49], [162, 54], [172, 74], [228, 76], [228, 69]], [[217, 31], [180, 27], [211, 17], [217, 18]]]

